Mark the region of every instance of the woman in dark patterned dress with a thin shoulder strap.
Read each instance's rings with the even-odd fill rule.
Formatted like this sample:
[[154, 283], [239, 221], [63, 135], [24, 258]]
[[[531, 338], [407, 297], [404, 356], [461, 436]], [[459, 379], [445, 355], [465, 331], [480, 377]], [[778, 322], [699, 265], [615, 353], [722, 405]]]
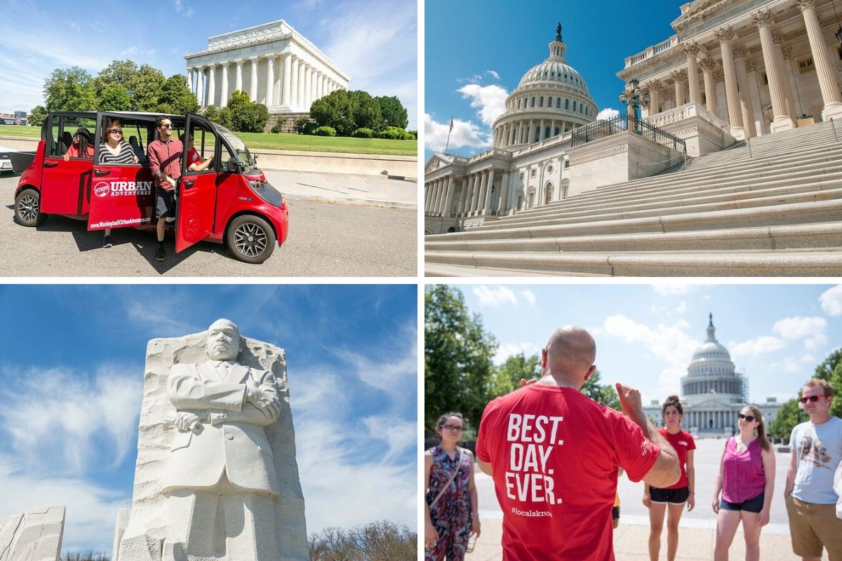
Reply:
[[470, 537], [479, 537], [473, 454], [457, 445], [464, 429], [460, 413], [441, 415], [441, 442], [424, 453], [424, 561], [461, 561]]

